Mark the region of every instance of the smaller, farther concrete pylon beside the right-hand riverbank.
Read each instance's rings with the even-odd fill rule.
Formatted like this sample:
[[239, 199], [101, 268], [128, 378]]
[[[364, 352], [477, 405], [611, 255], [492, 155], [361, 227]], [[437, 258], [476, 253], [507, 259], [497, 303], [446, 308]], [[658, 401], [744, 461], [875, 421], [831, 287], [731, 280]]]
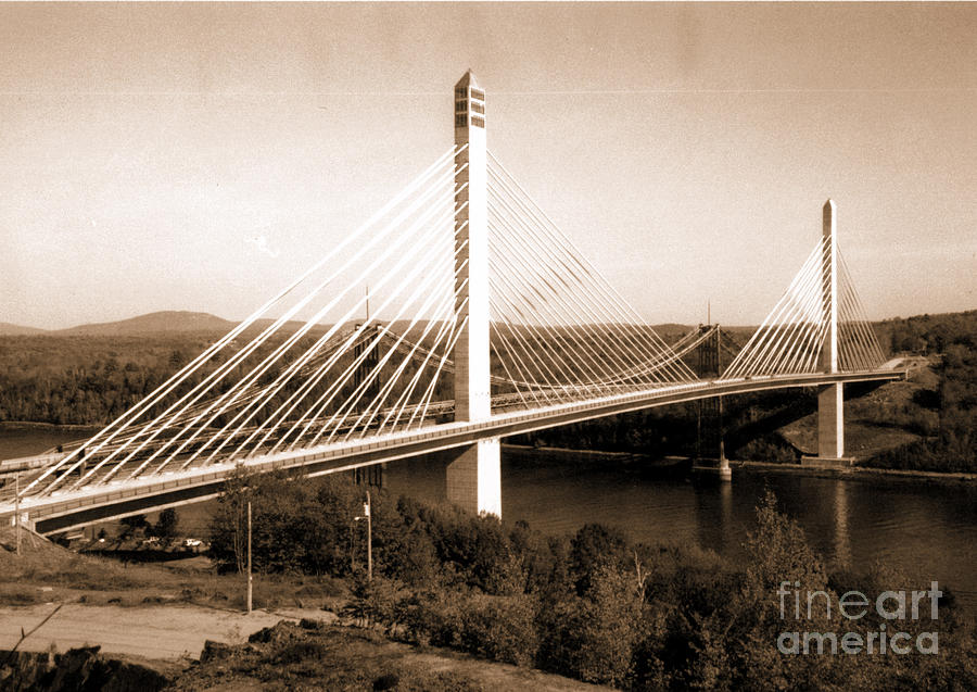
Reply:
[[[834, 200], [824, 203], [822, 261], [822, 315], [827, 320], [821, 349], [823, 373], [838, 372], [838, 215]], [[845, 457], [845, 395], [841, 382], [817, 391], [817, 457], [824, 461]], [[845, 460], [848, 462], [848, 460]]]

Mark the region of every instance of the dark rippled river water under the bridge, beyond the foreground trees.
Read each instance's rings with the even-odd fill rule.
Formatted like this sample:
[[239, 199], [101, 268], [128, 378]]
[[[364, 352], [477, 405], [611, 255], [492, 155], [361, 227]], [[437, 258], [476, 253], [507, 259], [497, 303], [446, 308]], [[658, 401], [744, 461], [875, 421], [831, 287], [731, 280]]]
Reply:
[[[444, 460], [390, 465], [394, 494], [443, 500]], [[633, 541], [697, 543], [741, 561], [754, 507], [770, 488], [829, 564], [855, 570], [876, 561], [928, 584], [949, 587], [977, 612], [977, 489], [965, 485], [840, 480], [734, 471], [732, 483], [656, 478], [617, 463], [503, 453], [503, 515], [547, 533], [592, 521]]]

